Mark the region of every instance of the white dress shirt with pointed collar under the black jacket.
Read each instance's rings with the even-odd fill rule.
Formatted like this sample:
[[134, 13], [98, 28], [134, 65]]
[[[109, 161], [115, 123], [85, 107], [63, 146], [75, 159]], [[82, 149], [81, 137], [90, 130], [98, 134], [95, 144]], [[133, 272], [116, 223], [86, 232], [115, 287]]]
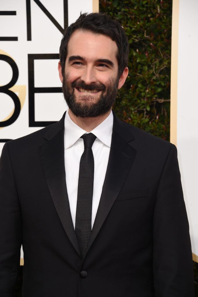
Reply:
[[[113, 113], [95, 127], [92, 132], [96, 139], [92, 146], [94, 156], [94, 185], [92, 200], [92, 227], [98, 210], [98, 204], [105, 179], [106, 168], [109, 160], [111, 136], [113, 129]], [[70, 211], [75, 229], [76, 204], [78, 194], [78, 174], [80, 159], [84, 152], [84, 142], [80, 138], [87, 133], [76, 125], [70, 118], [68, 110], [65, 115], [65, 174]]]

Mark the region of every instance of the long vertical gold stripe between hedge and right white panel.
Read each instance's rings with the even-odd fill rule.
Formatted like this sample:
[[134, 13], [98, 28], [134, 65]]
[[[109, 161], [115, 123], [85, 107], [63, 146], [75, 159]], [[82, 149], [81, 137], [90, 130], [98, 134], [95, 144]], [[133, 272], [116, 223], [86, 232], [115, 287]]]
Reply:
[[177, 69], [179, 2], [172, 1], [172, 44], [171, 44], [171, 103], [170, 103], [170, 142], [177, 145]]

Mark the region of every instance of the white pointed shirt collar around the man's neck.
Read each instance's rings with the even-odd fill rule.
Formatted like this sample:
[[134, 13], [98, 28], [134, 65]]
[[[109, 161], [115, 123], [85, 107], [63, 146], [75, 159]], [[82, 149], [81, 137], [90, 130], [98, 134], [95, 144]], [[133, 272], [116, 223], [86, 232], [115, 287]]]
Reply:
[[[92, 132], [106, 146], [111, 146], [111, 135], [113, 129], [113, 113], [95, 127]], [[87, 131], [76, 125], [69, 116], [68, 110], [65, 114], [65, 149], [72, 146]]]

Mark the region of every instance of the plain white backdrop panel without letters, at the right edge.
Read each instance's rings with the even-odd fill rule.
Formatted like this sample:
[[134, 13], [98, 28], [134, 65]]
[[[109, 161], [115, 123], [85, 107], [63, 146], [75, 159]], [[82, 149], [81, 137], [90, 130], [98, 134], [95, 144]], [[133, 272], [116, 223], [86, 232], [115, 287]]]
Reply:
[[[193, 259], [198, 262], [198, 1], [179, 1], [177, 150], [190, 225]], [[182, 248], [182, 247], [181, 247]]]

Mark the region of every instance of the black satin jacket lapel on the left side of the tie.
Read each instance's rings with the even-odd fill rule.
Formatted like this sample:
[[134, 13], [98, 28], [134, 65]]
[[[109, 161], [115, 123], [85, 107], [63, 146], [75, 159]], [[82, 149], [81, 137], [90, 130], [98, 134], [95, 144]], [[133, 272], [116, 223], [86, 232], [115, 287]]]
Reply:
[[[46, 135], [47, 136], [45, 138], [51, 138], [50, 129]], [[74, 248], [78, 254], [81, 255], [73, 227], [67, 195], [64, 161], [64, 128], [57, 132], [55, 136], [53, 135], [53, 138], [41, 146], [39, 148], [39, 153], [47, 185], [59, 219]]]

